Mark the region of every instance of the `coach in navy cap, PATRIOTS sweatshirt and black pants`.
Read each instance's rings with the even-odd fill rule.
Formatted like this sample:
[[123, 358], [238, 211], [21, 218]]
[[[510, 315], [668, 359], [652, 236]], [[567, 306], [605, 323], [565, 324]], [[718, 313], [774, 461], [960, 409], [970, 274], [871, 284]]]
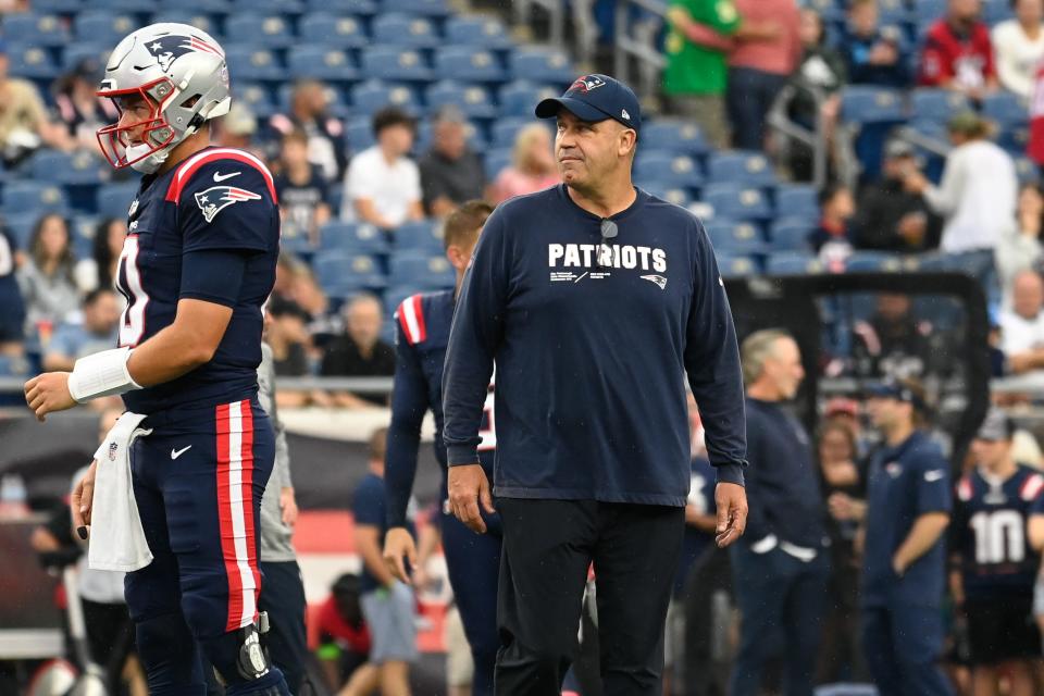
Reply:
[[605, 693], [658, 695], [689, 486], [686, 372], [718, 467], [718, 544], [746, 521], [735, 330], [699, 221], [631, 183], [634, 92], [586, 75], [536, 114], [557, 117], [564, 183], [501, 204], [463, 282], [443, 387], [450, 506], [484, 531], [476, 446], [495, 418], [498, 694], [559, 693], [593, 561]]

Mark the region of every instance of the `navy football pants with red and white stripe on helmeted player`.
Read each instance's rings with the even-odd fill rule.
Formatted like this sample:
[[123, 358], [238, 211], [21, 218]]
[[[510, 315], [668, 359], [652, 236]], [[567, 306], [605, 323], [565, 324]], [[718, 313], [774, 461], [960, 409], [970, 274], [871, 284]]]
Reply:
[[152, 696], [207, 693], [197, 643], [229, 696], [287, 695], [283, 674], [239, 674], [239, 630], [257, 618], [261, 495], [275, 452], [257, 400], [146, 419], [132, 450], [134, 494], [152, 562], [126, 579]]

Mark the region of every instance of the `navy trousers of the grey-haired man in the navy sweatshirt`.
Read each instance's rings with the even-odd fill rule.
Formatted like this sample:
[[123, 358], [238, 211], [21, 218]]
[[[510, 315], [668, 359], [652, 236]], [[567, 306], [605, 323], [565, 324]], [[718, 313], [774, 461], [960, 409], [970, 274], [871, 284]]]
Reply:
[[786, 696], [811, 696], [830, 561], [825, 551], [805, 562], [774, 548], [755, 554], [732, 548], [733, 587], [743, 616], [739, 651], [729, 693], [760, 693], [761, 670], [773, 654], [773, 634], [783, 634]]

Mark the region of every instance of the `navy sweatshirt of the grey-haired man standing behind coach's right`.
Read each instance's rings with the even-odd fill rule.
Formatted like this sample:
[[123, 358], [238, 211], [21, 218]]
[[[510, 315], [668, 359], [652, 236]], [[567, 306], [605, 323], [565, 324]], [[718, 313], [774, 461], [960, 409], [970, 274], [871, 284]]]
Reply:
[[747, 456], [747, 542], [774, 534], [782, 542], [821, 548], [825, 508], [805, 427], [780, 403], [748, 398]]

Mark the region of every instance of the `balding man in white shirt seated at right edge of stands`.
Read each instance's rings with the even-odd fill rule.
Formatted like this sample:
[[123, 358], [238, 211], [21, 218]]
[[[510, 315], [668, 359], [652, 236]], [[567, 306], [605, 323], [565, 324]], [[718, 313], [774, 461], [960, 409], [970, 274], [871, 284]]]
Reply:
[[1022, 271], [1011, 285], [1011, 304], [1000, 312], [1000, 349], [1008, 370], [1044, 368], [1044, 279]]

